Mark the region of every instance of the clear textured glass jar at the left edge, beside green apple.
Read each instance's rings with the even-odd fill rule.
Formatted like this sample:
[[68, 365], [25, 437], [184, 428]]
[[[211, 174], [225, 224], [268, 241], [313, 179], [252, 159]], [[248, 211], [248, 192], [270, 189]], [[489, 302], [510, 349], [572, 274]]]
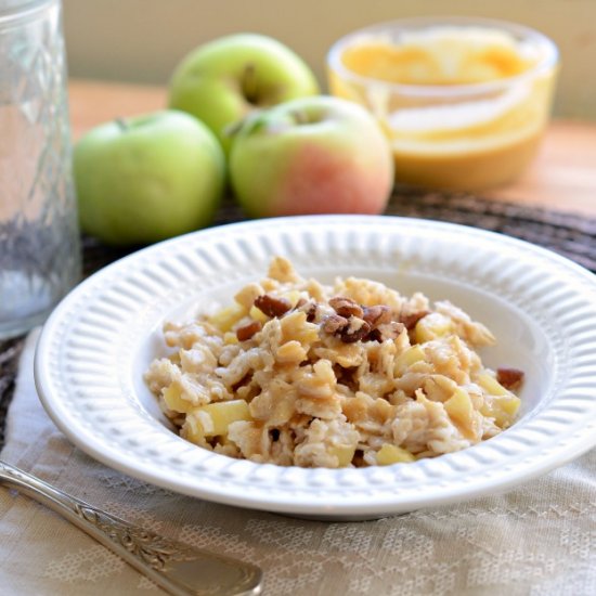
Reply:
[[0, 339], [80, 275], [60, 0], [0, 2]]

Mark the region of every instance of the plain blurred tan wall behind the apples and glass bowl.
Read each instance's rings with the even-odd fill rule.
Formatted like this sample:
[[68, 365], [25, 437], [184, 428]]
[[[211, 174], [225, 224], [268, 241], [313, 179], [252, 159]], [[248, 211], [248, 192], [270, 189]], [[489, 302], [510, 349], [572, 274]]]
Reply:
[[596, 120], [596, 0], [63, 0], [70, 77], [167, 85], [195, 46], [239, 31], [277, 38], [326, 88], [342, 35], [405, 16], [469, 15], [536, 28], [559, 47], [559, 117]]

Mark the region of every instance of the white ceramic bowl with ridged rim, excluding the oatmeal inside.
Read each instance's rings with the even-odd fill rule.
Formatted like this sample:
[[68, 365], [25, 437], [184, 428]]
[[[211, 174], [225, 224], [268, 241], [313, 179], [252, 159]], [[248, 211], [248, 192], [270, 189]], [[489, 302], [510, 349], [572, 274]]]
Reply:
[[[178, 437], [143, 383], [161, 324], [184, 319], [285, 255], [305, 275], [359, 275], [448, 298], [485, 323], [489, 366], [526, 371], [519, 422], [467, 450], [413, 464], [303, 469], [232, 459]], [[168, 241], [93, 275], [56, 308], [35, 364], [55, 424], [104, 464], [209, 501], [363, 519], [491, 494], [596, 444], [596, 277], [498, 234], [432, 221], [315, 216], [251, 221]]]

